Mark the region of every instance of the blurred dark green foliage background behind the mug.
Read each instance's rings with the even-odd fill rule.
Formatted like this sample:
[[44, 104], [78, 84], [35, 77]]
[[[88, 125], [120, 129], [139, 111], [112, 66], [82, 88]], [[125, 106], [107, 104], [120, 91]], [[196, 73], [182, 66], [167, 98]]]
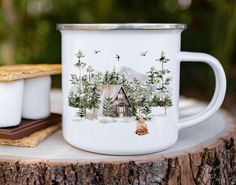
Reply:
[[[236, 113], [235, 0], [0, 0], [0, 65], [60, 63], [57, 23], [186, 23], [182, 50], [220, 60], [228, 80], [224, 106]], [[181, 94], [209, 101], [209, 66], [181, 64]], [[53, 80], [60, 87], [60, 77]]]

